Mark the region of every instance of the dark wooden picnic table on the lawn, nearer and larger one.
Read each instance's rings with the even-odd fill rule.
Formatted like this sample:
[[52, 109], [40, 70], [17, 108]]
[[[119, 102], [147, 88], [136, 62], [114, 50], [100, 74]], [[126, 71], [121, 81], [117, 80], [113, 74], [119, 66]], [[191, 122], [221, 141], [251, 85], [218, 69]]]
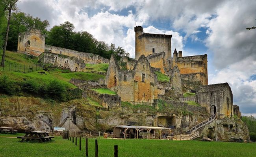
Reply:
[[35, 140], [38, 140], [39, 142], [46, 142], [52, 141], [52, 138], [54, 138], [54, 136], [50, 136], [49, 133], [45, 131], [30, 131], [25, 133], [25, 136], [17, 136], [18, 139], [21, 139], [20, 142]]

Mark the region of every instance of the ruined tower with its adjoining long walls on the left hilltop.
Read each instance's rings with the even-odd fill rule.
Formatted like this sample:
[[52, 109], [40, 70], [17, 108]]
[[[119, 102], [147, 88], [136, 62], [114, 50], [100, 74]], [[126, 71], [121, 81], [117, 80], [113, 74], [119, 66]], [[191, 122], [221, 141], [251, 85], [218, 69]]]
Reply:
[[36, 29], [19, 33], [17, 52], [38, 56], [39, 60], [45, 64], [53, 64], [71, 71], [85, 71], [85, 63], [99, 64], [109, 62], [109, 59], [92, 53], [45, 45], [44, 35]]

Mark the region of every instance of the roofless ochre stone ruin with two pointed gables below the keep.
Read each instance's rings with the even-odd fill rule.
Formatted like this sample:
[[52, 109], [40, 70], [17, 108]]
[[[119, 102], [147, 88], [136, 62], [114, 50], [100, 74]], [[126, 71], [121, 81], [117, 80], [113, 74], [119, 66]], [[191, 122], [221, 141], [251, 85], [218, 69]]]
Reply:
[[126, 71], [121, 71], [112, 55], [105, 84], [116, 91], [122, 101], [152, 103], [157, 99], [157, 77], [144, 55], [139, 58], [133, 70]]

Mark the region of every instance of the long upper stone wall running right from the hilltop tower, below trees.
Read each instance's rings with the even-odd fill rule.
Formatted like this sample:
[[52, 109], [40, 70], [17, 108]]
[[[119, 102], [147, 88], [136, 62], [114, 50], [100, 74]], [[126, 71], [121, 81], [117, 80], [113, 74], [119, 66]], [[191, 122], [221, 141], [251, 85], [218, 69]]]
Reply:
[[65, 48], [50, 46], [50, 45], [45, 45], [45, 50], [48, 50], [51, 53], [67, 55], [70, 57], [77, 57], [79, 59], [84, 60], [86, 64], [109, 63], [109, 59], [103, 58], [93, 53], [79, 52], [71, 49], [65, 49]]

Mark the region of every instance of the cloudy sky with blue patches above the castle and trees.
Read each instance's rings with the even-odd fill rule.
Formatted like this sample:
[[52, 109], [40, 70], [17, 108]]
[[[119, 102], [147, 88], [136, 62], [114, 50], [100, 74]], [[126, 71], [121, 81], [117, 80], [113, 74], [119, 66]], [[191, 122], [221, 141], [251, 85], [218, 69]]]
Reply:
[[172, 34], [173, 50], [208, 54], [209, 84], [228, 82], [234, 104], [256, 117], [256, 29], [245, 29], [256, 26], [255, 0], [20, 0], [18, 7], [50, 27], [69, 21], [131, 57], [135, 24]]

